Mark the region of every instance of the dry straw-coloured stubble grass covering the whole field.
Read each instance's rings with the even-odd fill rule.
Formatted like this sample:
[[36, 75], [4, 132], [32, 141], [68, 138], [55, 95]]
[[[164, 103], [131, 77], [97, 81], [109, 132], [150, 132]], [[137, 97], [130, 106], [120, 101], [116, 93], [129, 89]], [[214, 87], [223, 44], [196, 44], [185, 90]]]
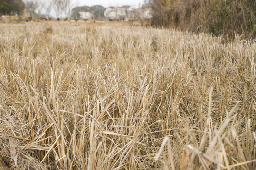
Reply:
[[11, 169], [256, 167], [256, 42], [135, 26], [0, 25]]

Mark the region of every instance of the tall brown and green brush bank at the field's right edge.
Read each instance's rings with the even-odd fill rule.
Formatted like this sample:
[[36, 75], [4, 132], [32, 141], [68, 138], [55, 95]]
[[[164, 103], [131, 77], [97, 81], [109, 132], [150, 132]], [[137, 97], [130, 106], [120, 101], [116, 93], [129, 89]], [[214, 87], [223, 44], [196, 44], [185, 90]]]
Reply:
[[255, 0], [153, 0], [153, 26], [256, 38]]

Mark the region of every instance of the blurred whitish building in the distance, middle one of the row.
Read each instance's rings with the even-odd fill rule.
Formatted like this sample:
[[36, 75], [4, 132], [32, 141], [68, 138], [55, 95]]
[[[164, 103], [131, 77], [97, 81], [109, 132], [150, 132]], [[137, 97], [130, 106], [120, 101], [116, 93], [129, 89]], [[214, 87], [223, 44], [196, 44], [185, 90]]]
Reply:
[[104, 11], [104, 16], [106, 19], [125, 19], [127, 17], [126, 15], [126, 9], [122, 7], [110, 7], [106, 8]]

